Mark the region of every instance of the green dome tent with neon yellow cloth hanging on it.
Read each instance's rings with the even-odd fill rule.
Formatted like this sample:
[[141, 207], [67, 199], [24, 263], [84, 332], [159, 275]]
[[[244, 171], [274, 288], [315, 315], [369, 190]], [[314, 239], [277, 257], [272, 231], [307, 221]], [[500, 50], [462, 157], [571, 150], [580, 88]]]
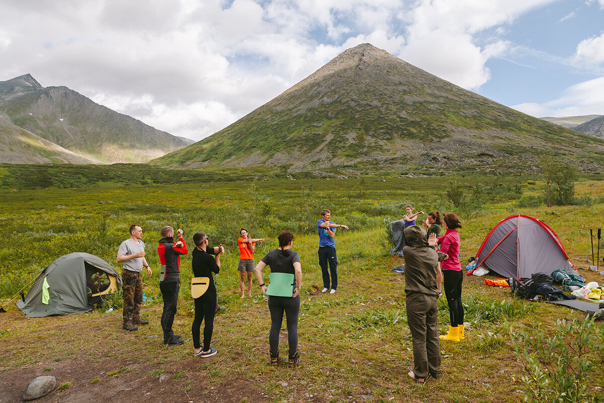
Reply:
[[[109, 285], [98, 289], [92, 280], [95, 273], [106, 274]], [[103, 294], [109, 288], [117, 291], [121, 286], [121, 276], [100, 257], [89, 253], [70, 253], [43, 269], [27, 292], [25, 301], [19, 300], [17, 307], [27, 318], [82, 314], [92, 310], [94, 300], [91, 296]]]

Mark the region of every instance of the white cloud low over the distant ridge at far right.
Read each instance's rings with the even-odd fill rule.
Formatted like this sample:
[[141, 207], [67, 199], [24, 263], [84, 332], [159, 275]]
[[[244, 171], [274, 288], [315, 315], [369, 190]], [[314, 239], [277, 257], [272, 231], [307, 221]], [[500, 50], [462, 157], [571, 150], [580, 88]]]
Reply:
[[604, 77], [588, 80], [565, 89], [562, 97], [542, 104], [522, 103], [512, 108], [535, 117], [603, 114]]

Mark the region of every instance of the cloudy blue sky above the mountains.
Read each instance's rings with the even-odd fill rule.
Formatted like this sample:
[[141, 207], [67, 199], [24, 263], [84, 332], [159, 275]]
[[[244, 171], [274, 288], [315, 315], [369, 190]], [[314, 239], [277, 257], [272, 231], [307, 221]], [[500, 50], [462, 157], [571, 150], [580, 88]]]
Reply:
[[536, 117], [604, 114], [604, 0], [0, 3], [0, 80], [194, 140], [364, 42]]

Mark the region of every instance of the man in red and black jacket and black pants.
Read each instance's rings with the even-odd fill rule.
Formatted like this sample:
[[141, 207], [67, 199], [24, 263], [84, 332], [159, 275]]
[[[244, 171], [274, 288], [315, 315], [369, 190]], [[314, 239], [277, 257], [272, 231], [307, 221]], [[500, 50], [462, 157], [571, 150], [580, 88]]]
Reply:
[[164, 344], [182, 345], [180, 335], [172, 331], [176, 305], [178, 304], [178, 290], [181, 283], [181, 255], [187, 254], [187, 243], [182, 238], [182, 230], [176, 230], [178, 241], [174, 242], [174, 229], [169, 225], [161, 228], [161, 239], [157, 247], [161, 273], [159, 274], [159, 291], [164, 298], [164, 311], [161, 314], [161, 328], [164, 330]]

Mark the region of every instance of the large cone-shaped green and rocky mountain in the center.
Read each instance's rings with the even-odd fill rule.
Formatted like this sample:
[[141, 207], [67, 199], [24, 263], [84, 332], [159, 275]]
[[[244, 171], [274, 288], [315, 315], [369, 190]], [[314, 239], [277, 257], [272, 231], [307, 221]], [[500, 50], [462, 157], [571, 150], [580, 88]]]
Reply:
[[543, 153], [570, 156], [588, 171], [604, 166], [604, 140], [522, 114], [362, 44], [230, 126], [153, 162], [497, 173], [535, 169]]

